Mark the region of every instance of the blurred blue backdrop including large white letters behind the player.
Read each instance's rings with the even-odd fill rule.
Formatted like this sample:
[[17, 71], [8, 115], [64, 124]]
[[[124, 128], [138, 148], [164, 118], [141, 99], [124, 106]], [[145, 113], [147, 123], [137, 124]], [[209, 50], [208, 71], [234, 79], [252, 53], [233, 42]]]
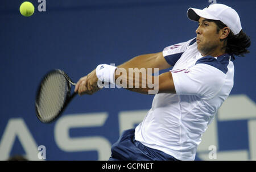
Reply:
[[[196, 37], [187, 9], [207, 0], [0, 1], [0, 160], [108, 160], [119, 134], [134, 128], [153, 95], [103, 89], [76, 97], [51, 124], [36, 118], [35, 95], [43, 75], [62, 69], [74, 82], [98, 64], [116, 66]], [[46, 11], [38, 6], [46, 2]], [[235, 9], [251, 38], [250, 54], [234, 62], [234, 87], [202, 137], [196, 160], [256, 160], [255, 1], [221, 1]], [[164, 72], [164, 71], [163, 71]], [[162, 73], [162, 72], [161, 72]], [[217, 152], [217, 154], [215, 154]], [[43, 155], [43, 156], [42, 156]]]

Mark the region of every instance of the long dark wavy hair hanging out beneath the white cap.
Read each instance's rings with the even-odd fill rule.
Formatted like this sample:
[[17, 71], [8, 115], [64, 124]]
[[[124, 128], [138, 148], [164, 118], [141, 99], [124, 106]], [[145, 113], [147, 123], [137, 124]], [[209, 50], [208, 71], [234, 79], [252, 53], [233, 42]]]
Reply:
[[[214, 22], [217, 24], [217, 33], [224, 27], [227, 27], [226, 24], [222, 23], [220, 20], [210, 20], [209, 22]], [[226, 41], [226, 53], [234, 54], [236, 56], [244, 57], [244, 54], [250, 53], [248, 48], [251, 45], [250, 37], [246, 35], [243, 30], [241, 30], [237, 35], [230, 30], [228, 37], [224, 39]]]

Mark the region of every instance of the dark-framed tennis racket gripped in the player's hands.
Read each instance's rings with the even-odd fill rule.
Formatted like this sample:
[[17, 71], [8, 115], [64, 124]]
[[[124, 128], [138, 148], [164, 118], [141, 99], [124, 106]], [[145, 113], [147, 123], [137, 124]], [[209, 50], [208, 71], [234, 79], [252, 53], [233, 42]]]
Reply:
[[36, 116], [43, 123], [57, 119], [77, 95], [71, 94], [71, 86], [76, 86], [68, 75], [60, 69], [54, 69], [44, 75], [36, 93]]

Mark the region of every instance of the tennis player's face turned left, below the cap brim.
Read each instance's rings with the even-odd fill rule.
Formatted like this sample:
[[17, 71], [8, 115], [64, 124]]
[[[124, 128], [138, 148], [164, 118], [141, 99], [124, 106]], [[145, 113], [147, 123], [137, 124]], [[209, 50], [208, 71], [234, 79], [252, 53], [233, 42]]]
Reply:
[[199, 19], [196, 30], [197, 49], [203, 55], [209, 55], [221, 46], [220, 35], [217, 33], [217, 24], [208, 22], [205, 18]]

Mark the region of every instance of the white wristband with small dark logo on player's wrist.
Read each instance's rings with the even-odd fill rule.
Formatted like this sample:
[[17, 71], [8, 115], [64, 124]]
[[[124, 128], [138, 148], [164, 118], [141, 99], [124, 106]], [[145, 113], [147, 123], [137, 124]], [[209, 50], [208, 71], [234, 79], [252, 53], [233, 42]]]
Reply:
[[106, 64], [98, 65], [96, 68], [97, 78], [101, 82], [110, 82], [112, 84], [115, 84], [115, 78], [114, 78], [115, 69], [117, 69], [117, 67], [111, 66], [111, 65], [106, 65]]

